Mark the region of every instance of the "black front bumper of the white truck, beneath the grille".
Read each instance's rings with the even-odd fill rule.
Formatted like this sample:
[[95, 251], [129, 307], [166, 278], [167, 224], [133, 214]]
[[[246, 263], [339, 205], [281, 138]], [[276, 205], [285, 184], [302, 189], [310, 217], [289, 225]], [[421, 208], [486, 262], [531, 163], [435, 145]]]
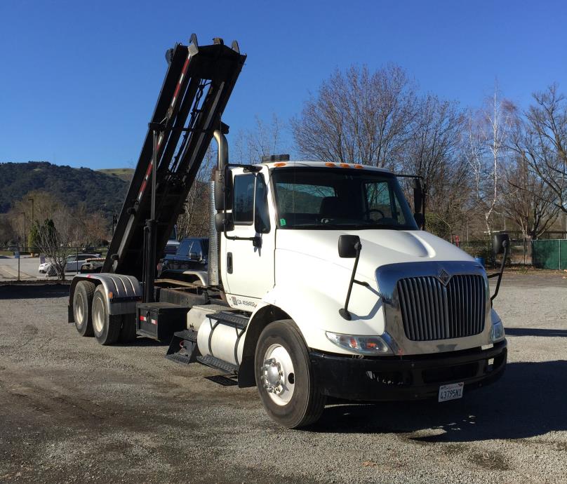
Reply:
[[429, 355], [351, 358], [311, 351], [309, 356], [325, 395], [354, 401], [420, 400], [436, 397], [443, 384], [465, 382], [468, 391], [495, 382], [506, 366], [507, 343]]

